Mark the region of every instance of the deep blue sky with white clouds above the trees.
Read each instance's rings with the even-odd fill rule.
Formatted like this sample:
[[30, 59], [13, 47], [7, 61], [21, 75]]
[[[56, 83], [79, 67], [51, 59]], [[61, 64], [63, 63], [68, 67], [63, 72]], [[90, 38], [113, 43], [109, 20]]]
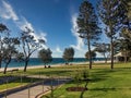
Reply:
[[[94, 4], [96, 0], [91, 1]], [[76, 33], [81, 3], [82, 0], [0, 0], [0, 23], [8, 26], [12, 36], [19, 36], [27, 26], [36, 39], [45, 39], [44, 48], [50, 48], [53, 58], [61, 58], [69, 47], [74, 48], [75, 58], [84, 58], [87, 46]]]

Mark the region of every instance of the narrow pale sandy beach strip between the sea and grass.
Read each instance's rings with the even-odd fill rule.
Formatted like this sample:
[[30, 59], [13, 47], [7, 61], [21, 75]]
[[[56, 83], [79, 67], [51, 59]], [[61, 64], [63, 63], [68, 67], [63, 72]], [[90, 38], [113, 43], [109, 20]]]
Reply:
[[[107, 61], [107, 63], [109, 63], [110, 61]], [[93, 63], [105, 63], [105, 61], [94, 61]], [[72, 62], [72, 65], [74, 64], [88, 64], [88, 62]], [[62, 66], [66, 65], [64, 63], [59, 63], [59, 64], [51, 64], [51, 68], [56, 68], [56, 66]], [[47, 65], [48, 66], [48, 65]], [[44, 65], [28, 65], [27, 69], [40, 69], [44, 68]], [[12, 70], [24, 70], [24, 66], [17, 66], [17, 68], [8, 68], [7, 71], [12, 71]], [[3, 72], [4, 68], [0, 69], [0, 72]]]

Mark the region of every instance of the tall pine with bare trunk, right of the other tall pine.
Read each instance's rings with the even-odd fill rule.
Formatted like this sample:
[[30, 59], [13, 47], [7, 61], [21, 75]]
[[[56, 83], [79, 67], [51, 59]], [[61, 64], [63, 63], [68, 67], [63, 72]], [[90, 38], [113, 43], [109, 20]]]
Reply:
[[99, 0], [98, 14], [106, 25], [106, 35], [110, 39], [111, 69], [114, 69], [114, 40], [127, 20], [124, 0]]

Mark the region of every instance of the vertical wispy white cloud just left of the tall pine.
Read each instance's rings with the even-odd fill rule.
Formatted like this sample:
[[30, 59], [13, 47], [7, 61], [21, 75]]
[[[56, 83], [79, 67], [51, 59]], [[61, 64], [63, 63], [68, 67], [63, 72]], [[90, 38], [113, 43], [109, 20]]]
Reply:
[[84, 47], [84, 44], [82, 38], [79, 37], [76, 17], [78, 17], [76, 13], [73, 14], [71, 17], [71, 23], [72, 23], [71, 32], [73, 36], [76, 38], [76, 45], [71, 45], [71, 47], [73, 47], [76, 50], [82, 50], [82, 48]]

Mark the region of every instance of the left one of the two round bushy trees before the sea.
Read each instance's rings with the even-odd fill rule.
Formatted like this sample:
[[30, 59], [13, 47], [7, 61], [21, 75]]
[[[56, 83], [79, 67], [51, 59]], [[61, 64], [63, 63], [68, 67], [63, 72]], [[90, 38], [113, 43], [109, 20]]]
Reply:
[[41, 49], [38, 52], [38, 57], [40, 58], [40, 60], [45, 63], [45, 68], [47, 63], [50, 63], [52, 61], [52, 57], [51, 57], [51, 50], [48, 49]]

